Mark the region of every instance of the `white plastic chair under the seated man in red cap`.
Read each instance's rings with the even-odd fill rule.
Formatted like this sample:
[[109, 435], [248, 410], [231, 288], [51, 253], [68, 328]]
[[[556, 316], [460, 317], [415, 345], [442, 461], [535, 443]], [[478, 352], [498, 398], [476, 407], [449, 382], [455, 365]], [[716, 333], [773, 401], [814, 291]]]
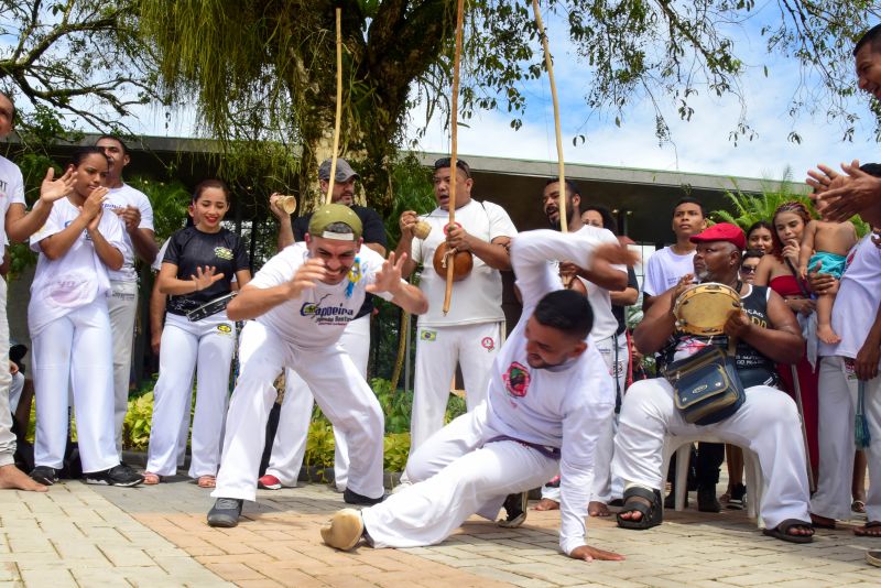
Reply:
[[[685, 497], [688, 492], [688, 461], [690, 459], [692, 444], [695, 442], [704, 443], [728, 443], [715, 435], [670, 435], [664, 443], [664, 462], [661, 471], [667, 472], [670, 458], [676, 454], [676, 483], [675, 483], [675, 509], [685, 510]], [[731, 445], [729, 443], [729, 445]], [[764, 477], [759, 456], [747, 447], [738, 446], [743, 450], [743, 469], [747, 477], [747, 515], [758, 519], [759, 529], [764, 527], [761, 516], [762, 494], [764, 492]]]

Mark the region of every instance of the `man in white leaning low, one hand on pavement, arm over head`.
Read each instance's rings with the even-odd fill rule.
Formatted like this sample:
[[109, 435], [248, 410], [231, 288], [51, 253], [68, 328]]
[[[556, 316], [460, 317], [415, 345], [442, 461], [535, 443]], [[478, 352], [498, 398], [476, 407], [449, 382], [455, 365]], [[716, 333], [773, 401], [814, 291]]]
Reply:
[[520, 233], [511, 261], [523, 315], [492, 364], [487, 401], [435, 433], [410, 457], [413, 486], [360, 512], [337, 512], [322, 529], [331, 547], [440, 543], [474, 513], [494, 520], [508, 494], [536, 488], [561, 470], [559, 544], [579, 559], [623, 559], [585, 545], [585, 518], [600, 425], [611, 418], [614, 385], [597, 349], [583, 294], [564, 291], [547, 260], [583, 268], [624, 260], [596, 233]]

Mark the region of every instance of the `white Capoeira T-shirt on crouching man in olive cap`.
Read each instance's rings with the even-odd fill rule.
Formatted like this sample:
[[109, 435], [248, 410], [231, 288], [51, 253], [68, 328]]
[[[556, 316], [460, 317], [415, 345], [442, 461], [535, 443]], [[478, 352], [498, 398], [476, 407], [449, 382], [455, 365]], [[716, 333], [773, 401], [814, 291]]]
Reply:
[[[308, 259], [306, 243], [294, 243], [263, 265], [246, 287], [274, 287], [293, 280], [296, 271]], [[383, 258], [369, 247], [362, 247], [355, 259], [349, 279], [339, 284], [317, 282], [292, 298], [257, 317], [274, 330], [281, 339], [298, 349], [319, 349], [334, 345], [346, 325], [355, 318], [365, 302], [365, 286], [372, 284], [382, 268]], [[377, 294], [391, 300], [388, 292]]]

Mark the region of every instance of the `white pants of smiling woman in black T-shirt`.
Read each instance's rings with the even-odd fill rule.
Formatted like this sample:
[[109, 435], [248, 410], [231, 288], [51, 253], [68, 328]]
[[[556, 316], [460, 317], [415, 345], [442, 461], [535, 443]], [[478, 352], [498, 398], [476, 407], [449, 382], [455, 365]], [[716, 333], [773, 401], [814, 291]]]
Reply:
[[214, 476], [220, 464], [220, 440], [229, 399], [229, 366], [236, 351], [236, 324], [226, 313], [195, 323], [168, 313], [160, 344], [159, 381], [153, 390], [153, 424], [146, 471], [177, 471], [182, 420], [189, 420], [193, 370], [196, 370], [196, 412], [193, 417], [193, 459], [189, 476]]

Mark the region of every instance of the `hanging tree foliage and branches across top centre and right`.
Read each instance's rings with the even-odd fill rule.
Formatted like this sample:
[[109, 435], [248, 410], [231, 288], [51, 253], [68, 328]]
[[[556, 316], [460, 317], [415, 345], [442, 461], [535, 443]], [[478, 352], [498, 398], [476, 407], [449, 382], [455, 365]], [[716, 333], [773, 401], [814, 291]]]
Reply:
[[[794, 88], [793, 113], [828, 108], [853, 132], [844, 109], [853, 90], [850, 50], [856, 35], [881, 18], [870, 0], [546, 0], [567, 25], [584, 64], [586, 113], [620, 115], [635, 98], [656, 111], [655, 132], [668, 139], [661, 115], [673, 101], [690, 118], [701, 94], [741, 96], [747, 67], [796, 59], [805, 79]], [[334, 8], [342, 9], [344, 117], [341, 152], [361, 160], [374, 206], [388, 210], [388, 168], [402, 145], [407, 112], [448, 115], [454, 0], [141, 0], [140, 23], [155, 46], [162, 90], [195, 104], [204, 131], [228, 145], [271, 140], [297, 175], [301, 198], [315, 185], [315, 164], [329, 155], [335, 111]], [[544, 65], [530, 0], [467, 3], [461, 116], [504, 108], [519, 127], [529, 91]], [[752, 63], [738, 31], [760, 37], [768, 61]], [[812, 77], [813, 76], [813, 77]], [[818, 77], [817, 77], [818, 76]], [[823, 97], [822, 100], [818, 97]], [[742, 96], [741, 96], [742, 99]], [[620, 122], [620, 117], [616, 117]], [[751, 137], [746, 110], [731, 137]], [[800, 137], [793, 131], [791, 140]], [[239, 143], [236, 143], [236, 142]], [[244, 143], [241, 143], [241, 142]], [[290, 154], [295, 156], [291, 157]], [[293, 163], [292, 163], [293, 162]]]

